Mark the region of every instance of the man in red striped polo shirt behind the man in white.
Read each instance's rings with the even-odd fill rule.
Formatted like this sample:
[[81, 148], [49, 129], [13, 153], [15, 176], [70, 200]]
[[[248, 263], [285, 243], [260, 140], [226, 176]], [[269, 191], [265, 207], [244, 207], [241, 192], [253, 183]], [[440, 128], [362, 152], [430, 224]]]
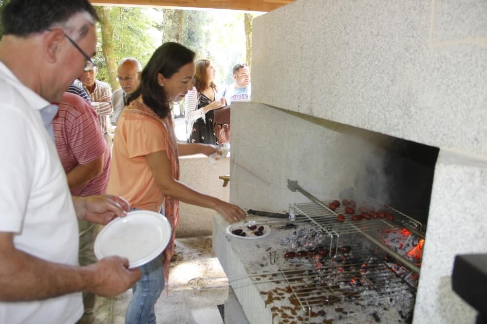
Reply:
[[[82, 97], [65, 92], [52, 125], [54, 141], [73, 196], [105, 194], [111, 154], [93, 107]], [[96, 262], [93, 243], [100, 226], [78, 220], [79, 264]], [[93, 313], [95, 296], [83, 293], [85, 314]], [[87, 315], [90, 316], [90, 315]]]

